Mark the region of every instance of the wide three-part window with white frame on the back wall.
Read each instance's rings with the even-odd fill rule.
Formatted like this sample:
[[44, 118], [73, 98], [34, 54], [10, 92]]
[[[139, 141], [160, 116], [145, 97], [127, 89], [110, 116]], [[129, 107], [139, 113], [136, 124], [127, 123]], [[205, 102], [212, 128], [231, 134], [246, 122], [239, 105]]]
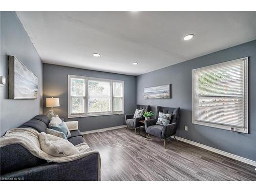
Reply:
[[123, 81], [68, 75], [68, 118], [123, 114]]

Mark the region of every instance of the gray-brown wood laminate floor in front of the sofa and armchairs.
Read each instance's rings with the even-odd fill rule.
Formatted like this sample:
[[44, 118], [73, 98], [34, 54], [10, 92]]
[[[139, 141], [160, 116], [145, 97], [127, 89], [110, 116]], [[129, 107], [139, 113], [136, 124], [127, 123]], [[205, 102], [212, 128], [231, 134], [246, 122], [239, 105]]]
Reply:
[[146, 141], [131, 127], [83, 137], [100, 152], [102, 181], [256, 181], [251, 165], [174, 139], [165, 150], [162, 139]]

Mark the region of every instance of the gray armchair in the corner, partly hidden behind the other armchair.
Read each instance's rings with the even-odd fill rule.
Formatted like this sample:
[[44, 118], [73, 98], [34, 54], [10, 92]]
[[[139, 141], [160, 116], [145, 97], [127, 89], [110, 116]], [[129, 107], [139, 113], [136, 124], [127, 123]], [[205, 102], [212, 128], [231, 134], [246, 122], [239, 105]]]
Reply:
[[[149, 111], [150, 110], [150, 105], [141, 105], [141, 104], [136, 104], [136, 109], [138, 110], [144, 110], [144, 111]], [[131, 115], [125, 115], [125, 122], [127, 124], [127, 127], [130, 125], [131, 127], [135, 128], [135, 134], [137, 132], [137, 127], [139, 126], [144, 126], [144, 123], [141, 123], [139, 121], [145, 120], [145, 117], [138, 117], [138, 118], [133, 118], [134, 114]], [[126, 127], [126, 129], [127, 129]]]

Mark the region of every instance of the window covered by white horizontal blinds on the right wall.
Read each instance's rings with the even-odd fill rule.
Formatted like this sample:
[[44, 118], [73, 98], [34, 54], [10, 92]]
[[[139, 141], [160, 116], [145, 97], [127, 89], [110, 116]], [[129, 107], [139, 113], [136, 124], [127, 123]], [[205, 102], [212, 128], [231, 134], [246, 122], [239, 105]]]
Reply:
[[248, 58], [192, 70], [193, 123], [248, 133]]

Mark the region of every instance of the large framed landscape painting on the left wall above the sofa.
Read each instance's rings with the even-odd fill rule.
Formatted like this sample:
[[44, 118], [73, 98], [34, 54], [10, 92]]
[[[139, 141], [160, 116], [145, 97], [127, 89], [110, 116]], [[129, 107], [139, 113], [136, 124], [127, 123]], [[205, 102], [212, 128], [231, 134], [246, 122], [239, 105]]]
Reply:
[[36, 99], [38, 78], [14, 56], [9, 56], [9, 99]]

